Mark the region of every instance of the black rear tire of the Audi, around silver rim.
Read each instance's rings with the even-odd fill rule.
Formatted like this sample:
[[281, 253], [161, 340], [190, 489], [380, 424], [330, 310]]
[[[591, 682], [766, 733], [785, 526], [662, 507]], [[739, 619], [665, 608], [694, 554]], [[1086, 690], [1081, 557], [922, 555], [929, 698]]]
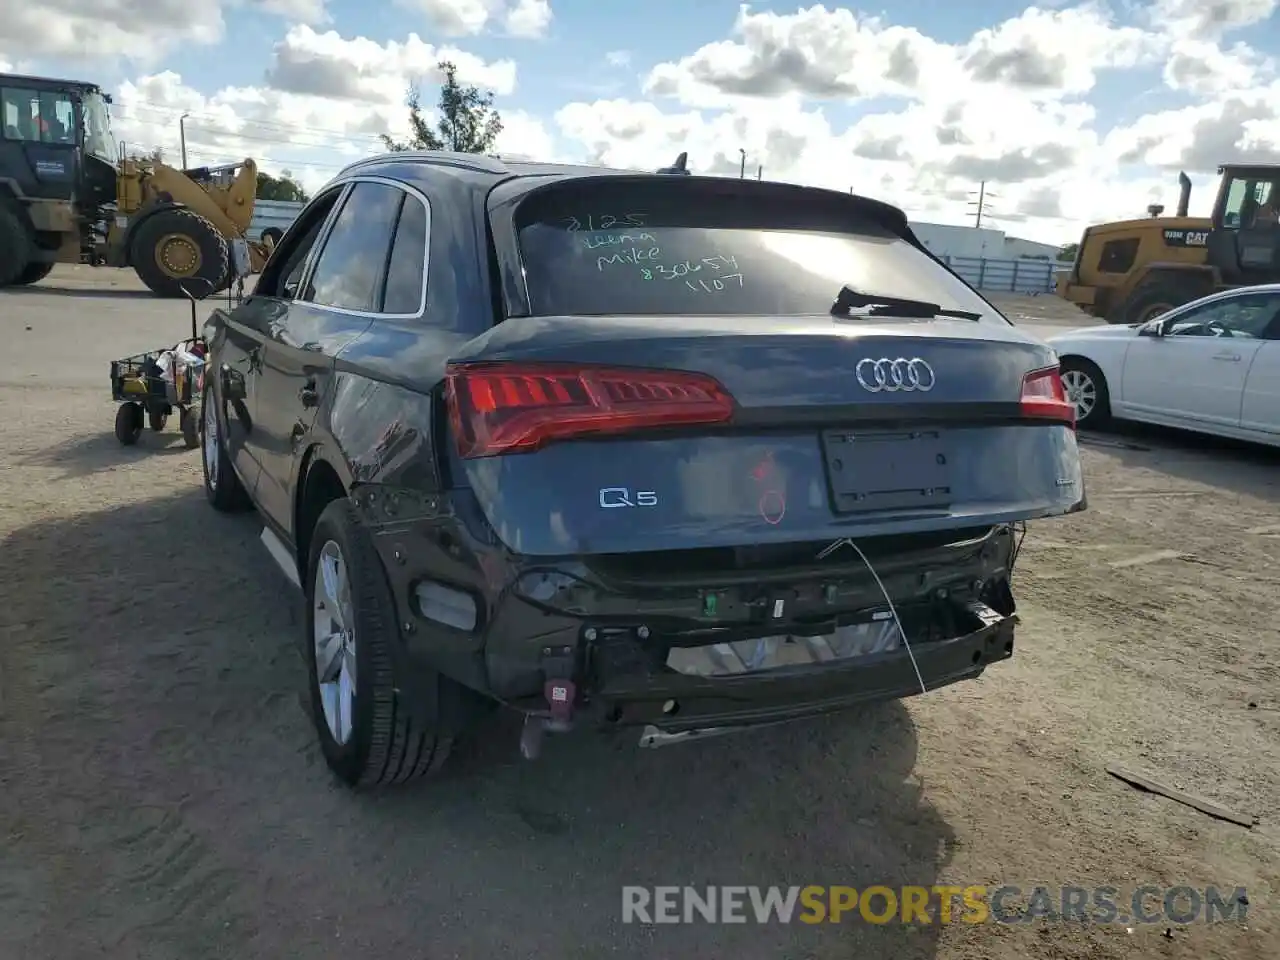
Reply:
[[[352, 663], [355, 666], [346, 737], [335, 736], [325, 713], [328, 687], [326, 692], [321, 691], [315, 640], [317, 622], [324, 635], [334, 632], [334, 623], [326, 622], [333, 604], [325, 595], [325, 577], [320, 572], [321, 559], [330, 564], [334, 558], [344, 571], [339, 582], [346, 584], [346, 590], [339, 594], [347, 598], [346, 604], [339, 604], [344, 612], [335, 620], [346, 625], [349, 636], [349, 644], [339, 645], [339, 659], [347, 671]], [[330, 577], [330, 582], [333, 580]], [[311, 718], [329, 769], [352, 787], [407, 783], [438, 772], [448, 758], [452, 737], [440, 732], [442, 724], [411, 717], [397, 692], [393, 650], [401, 644], [401, 636], [396, 604], [372, 540], [346, 497], [333, 500], [316, 521], [303, 586]], [[440, 710], [447, 709], [440, 704], [453, 700], [448, 690], [453, 681], [439, 675], [436, 681], [440, 686], [433, 719], [438, 721]], [[337, 692], [340, 694], [340, 686]], [[340, 727], [338, 732], [343, 732]]]

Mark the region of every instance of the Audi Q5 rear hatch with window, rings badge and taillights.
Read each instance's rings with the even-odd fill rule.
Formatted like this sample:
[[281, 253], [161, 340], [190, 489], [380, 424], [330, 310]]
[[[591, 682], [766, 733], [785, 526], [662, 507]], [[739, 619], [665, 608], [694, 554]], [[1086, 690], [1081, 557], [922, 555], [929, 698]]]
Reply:
[[[658, 177], [499, 202], [508, 319], [449, 365], [454, 481], [525, 556], [1070, 511], [1083, 486], [1055, 355], [895, 214], [783, 184]], [[845, 287], [977, 319], [833, 316]]]

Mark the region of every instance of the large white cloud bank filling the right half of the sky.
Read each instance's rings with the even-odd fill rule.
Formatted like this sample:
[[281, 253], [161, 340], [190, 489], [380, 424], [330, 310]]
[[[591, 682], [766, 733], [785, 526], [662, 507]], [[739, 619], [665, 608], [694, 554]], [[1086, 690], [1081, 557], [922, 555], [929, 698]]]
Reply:
[[[1084, 3], [1030, 8], [957, 44], [849, 9], [744, 5], [728, 40], [649, 72], [650, 101], [573, 104], [556, 120], [586, 157], [652, 169], [687, 148], [699, 172], [733, 175], [745, 150], [749, 172], [763, 163], [771, 178], [852, 186], [951, 223], [972, 221], [988, 180], [995, 223], [1062, 242], [1153, 201], [1171, 209], [1183, 168], [1203, 183], [1207, 212], [1219, 161], [1275, 156], [1275, 65], [1222, 40], [1274, 0], [1160, 3], [1175, 28]], [[1193, 20], [1202, 36], [1188, 33]], [[1134, 69], [1162, 69], [1169, 91], [1199, 102], [1107, 131], [1089, 99]], [[832, 106], [868, 101], [872, 113], [833, 128]]]

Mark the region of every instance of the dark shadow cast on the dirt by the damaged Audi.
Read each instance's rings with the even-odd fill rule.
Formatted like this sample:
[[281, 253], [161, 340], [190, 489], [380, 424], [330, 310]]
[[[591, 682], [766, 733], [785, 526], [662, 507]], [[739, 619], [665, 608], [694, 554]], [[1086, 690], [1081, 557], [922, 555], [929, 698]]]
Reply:
[[902, 704], [657, 751], [553, 739], [536, 763], [495, 719], [442, 780], [352, 794], [257, 532], [192, 492], [0, 547], [20, 955], [936, 955], [936, 927], [621, 923], [627, 884], [937, 882], [952, 832]]

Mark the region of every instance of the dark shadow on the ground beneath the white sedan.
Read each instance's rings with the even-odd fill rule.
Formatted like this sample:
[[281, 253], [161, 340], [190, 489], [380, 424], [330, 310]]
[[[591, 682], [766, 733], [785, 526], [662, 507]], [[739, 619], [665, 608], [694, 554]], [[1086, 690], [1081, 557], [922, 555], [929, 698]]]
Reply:
[[1280, 500], [1280, 449], [1148, 424], [1080, 431], [1080, 442], [1114, 453], [1129, 467]]

